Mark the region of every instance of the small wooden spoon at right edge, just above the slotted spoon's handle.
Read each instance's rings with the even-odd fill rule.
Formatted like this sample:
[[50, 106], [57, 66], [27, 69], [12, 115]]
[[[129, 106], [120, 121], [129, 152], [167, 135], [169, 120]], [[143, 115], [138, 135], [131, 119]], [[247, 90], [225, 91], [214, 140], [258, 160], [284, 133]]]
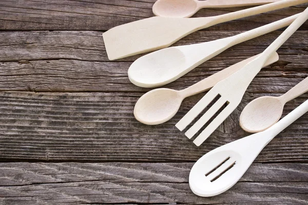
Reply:
[[308, 78], [302, 80], [284, 95], [263, 96], [251, 101], [240, 115], [240, 126], [250, 133], [272, 127], [280, 119], [285, 103], [308, 91]]

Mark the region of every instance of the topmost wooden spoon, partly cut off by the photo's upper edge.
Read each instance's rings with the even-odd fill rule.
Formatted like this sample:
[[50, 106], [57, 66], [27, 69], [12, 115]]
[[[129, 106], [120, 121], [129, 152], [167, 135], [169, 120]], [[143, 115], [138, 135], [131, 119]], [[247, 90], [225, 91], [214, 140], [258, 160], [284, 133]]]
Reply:
[[280, 0], [158, 0], [152, 10], [157, 16], [187, 18], [202, 8], [256, 6], [278, 1]]

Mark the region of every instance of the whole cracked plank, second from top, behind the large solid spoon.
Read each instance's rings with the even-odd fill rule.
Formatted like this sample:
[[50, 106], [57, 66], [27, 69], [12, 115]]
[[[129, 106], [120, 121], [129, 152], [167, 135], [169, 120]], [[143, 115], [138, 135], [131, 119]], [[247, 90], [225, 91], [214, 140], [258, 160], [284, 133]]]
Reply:
[[[201, 31], [182, 39], [178, 45], [203, 42], [234, 35], [239, 32]], [[242, 43], [210, 59], [192, 70], [168, 88], [182, 89], [240, 60], [262, 52], [280, 31]], [[296, 32], [278, 50], [280, 60], [262, 70], [251, 92], [266, 91], [264, 81], [307, 76], [307, 31]], [[258, 46], [256, 46], [258, 45]], [[145, 92], [148, 89], [130, 83], [127, 70], [131, 61], [108, 61], [101, 32], [93, 31], [37, 31], [0, 33], [0, 90], [35, 92]], [[251, 55], [247, 55], [247, 53]], [[259, 77], [264, 77], [259, 79]], [[260, 81], [261, 80], [261, 81]], [[294, 79], [290, 79], [291, 81]], [[262, 83], [261, 83], [262, 82]], [[249, 88], [249, 89], [250, 89]], [[259, 91], [258, 91], [259, 90]], [[276, 89], [275, 89], [276, 90]], [[274, 90], [274, 92], [276, 92]]]

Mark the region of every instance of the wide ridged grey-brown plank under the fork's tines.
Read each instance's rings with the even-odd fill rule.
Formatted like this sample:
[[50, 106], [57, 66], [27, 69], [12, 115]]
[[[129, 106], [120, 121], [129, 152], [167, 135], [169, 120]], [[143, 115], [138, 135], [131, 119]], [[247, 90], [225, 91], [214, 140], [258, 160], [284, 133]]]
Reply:
[[[0, 92], [2, 161], [192, 161], [246, 136], [238, 125], [244, 105], [264, 94], [245, 94], [242, 104], [200, 147], [175, 124], [203, 94], [183, 101], [163, 125], [146, 126], [133, 117], [141, 93]], [[292, 100], [284, 114], [307, 99]], [[256, 162], [307, 162], [308, 114], [278, 135]]]

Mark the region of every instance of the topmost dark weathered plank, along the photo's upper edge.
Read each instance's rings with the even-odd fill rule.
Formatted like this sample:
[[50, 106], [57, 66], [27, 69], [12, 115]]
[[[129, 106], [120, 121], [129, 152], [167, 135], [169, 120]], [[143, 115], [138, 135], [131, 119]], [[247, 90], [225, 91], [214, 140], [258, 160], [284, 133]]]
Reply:
[[[1, 30], [103, 30], [153, 16], [156, 0], [142, 1], [1, 1]], [[302, 12], [307, 4], [216, 25], [208, 30], [252, 29]], [[194, 17], [214, 16], [243, 8], [202, 9]], [[308, 30], [306, 23], [301, 29]]]

